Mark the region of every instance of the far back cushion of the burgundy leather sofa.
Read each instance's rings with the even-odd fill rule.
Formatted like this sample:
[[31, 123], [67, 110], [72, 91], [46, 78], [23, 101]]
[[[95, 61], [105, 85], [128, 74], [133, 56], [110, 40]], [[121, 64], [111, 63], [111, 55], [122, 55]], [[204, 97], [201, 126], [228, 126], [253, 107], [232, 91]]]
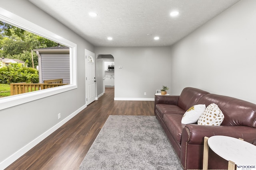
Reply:
[[206, 94], [209, 94], [209, 92], [200, 90], [198, 88], [186, 87], [180, 94], [178, 106], [184, 110], [188, 110], [191, 106], [200, 104], [198, 103], [198, 100]]

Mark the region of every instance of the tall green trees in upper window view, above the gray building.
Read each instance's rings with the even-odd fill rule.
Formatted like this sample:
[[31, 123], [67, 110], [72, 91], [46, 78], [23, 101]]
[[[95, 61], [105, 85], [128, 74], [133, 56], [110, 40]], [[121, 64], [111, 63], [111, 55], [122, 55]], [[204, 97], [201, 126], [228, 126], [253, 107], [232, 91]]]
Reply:
[[[32, 67], [32, 49], [57, 45], [54, 41], [0, 21], [0, 57], [28, 60], [28, 66]], [[36, 53], [33, 53], [33, 60], [34, 66], [38, 65]]]

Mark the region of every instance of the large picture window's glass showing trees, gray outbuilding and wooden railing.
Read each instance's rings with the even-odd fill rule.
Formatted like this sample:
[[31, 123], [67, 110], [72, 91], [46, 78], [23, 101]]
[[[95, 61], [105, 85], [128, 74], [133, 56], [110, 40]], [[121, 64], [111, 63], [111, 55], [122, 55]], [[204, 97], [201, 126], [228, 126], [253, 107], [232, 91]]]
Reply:
[[70, 84], [69, 47], [3, 21], [0, 45], [1, 98]]

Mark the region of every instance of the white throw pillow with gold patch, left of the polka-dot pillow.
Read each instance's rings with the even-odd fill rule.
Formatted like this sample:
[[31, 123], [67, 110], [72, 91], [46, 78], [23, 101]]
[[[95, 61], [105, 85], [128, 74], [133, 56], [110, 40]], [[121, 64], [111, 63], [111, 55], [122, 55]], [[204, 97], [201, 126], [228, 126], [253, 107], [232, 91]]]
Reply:
[[194, 105], [192, 107], [190, 107], [186, 113], [184, 113], [182, 119], [181, 119], [181, 123], [182, 124], [191, 124], [191, 123], [196, 123], [200, 117], [200, 115], [202, 115], [202, 113], [204, 113], [204, 110], [206, 109], [205, 104], [198, 104], [198, 105]]

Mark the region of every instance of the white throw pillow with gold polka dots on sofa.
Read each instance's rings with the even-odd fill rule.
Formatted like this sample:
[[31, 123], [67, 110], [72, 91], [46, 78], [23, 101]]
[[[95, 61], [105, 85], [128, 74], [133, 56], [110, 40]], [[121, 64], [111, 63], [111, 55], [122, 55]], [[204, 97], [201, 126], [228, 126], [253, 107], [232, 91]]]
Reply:
[[198, 119], [198, 125], [220, 126], [224, 120], [224, 114], [218, 105], [212, 103], [206, 107], [204, 113]]

